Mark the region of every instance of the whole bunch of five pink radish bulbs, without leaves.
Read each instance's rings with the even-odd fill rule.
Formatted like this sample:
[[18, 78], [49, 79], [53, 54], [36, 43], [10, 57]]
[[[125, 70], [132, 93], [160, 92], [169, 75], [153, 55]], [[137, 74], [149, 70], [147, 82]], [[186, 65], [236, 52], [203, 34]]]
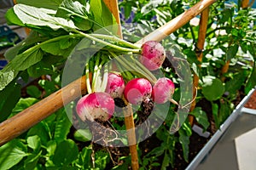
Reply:
[[[166, 59], [166, 52], [159, 42], [149, 41], [142, 46], [141, 63], [149, 70], [160, 68]], [[113, 116], [115, 98], [125, 98], [132, 105], [140, 105], [150, 99], [156, 104], [172, 101], [174, 83], [166, 77], [159, 78], [156, 82], [137, 77], [125, 84], [123, 77], [117, 73], [108, 73], [108, 83], [105, 92], [93, 92], [79, 99], [77, 113], [82, 121], [98, 120], [106, 122]]]

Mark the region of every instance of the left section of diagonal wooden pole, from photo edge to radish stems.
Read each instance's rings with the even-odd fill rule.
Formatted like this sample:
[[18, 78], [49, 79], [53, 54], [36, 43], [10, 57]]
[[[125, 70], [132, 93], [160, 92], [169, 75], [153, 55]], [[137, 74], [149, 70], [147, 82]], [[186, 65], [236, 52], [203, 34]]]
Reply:
[[59, 110], [63, 105], [67, 105], [73, 99], [77, 99], [79, 95], [85, 93], [85, 77], [81, 77], [26, 110], [21, 111], [19, 114], [0, 123], [0, 145], [26, 132], [27, 129], [43, 121], [44, 118]]

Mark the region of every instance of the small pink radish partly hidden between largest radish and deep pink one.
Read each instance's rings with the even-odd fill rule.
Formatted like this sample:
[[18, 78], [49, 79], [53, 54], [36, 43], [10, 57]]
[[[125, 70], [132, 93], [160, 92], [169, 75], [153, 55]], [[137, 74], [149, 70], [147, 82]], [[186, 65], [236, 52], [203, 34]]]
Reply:
[[106, 93], [114, 98], [121, 98], [125, 90], [125, 81], [123, 77], [115, 73], [108, 74], [108, 84]]

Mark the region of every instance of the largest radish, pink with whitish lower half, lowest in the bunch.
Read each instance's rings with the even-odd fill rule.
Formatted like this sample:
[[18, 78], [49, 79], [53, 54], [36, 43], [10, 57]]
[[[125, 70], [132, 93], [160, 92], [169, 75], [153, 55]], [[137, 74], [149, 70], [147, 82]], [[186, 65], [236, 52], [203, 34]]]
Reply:
[[107, 93], [95, 92], [79, 99], [76, 110], [82, 121], [106, 122], [113, 116], [114, 101]]

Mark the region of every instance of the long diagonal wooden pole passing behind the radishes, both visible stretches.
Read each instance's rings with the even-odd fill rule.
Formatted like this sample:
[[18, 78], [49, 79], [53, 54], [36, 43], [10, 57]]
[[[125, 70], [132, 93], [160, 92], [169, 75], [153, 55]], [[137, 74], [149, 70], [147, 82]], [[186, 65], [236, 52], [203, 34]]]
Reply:
[[[153, 31], [137, 43], [143, 43], [148, 40], [162, 40], [194, 18], [197, 14], [200, 14], [205, 8], [215, 1], [216, 0], [203, 0], [196, 3], [195, 6], [189, 8], [183, 14], [178, 15], [177, 18], [169, 21], [165, 26], [161, 26], [156, 31]], [[164, 35], [160, 34], [160, 32]], [[63, 107], [63, 105], [67, 105], [68, 102], [78, 98], [81, 91], [82, 94], [86, 93], [86, 83], [84, 79], [85, 77], [79, 78], [78, 80], [68, 84], [66, 87], [61, 88], [54, 94], [49, 95], [47, 98], [38, 101], [38, 103], [32, 105], [26, 110], [21, 111], [19, 114], [0, 123], [0, 145], [7, 143], [11, 139], [15, 139], [15, 137], [26, 132], [30, 127], [44, 120], [44, 118], [50, 116], [55, 111]], [[64, 99], [62, 94], [65, 94]]]

